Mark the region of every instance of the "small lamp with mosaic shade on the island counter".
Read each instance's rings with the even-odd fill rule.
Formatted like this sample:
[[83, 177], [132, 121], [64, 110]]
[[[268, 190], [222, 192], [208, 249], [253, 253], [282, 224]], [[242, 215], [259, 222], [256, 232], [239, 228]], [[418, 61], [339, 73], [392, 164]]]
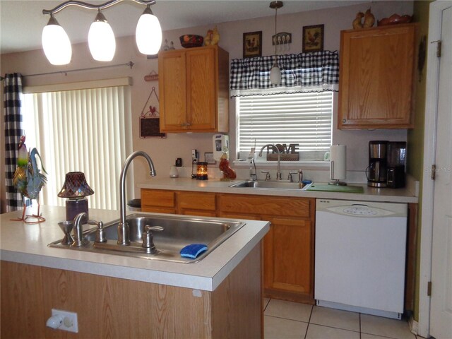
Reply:
[[86, 196], [94, 194], [93, 189], [86, 182], [83, 172], [66, 173], [63, 187], [59, 192], [60, 198], [68, 198], [66, 200], [66, 220], [73, 220], [78, 213], [85, 212], [86, 218], [83, 222], [88, 222], [88, 199]]

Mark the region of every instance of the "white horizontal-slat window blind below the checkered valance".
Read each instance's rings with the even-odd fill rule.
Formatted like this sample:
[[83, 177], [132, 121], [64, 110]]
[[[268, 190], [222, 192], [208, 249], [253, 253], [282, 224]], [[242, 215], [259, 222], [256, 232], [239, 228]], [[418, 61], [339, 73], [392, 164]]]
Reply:
[[300, 160], [323, 160], [331, 146], [333, 93], [237, 97], [237, 150], [299, 144]]

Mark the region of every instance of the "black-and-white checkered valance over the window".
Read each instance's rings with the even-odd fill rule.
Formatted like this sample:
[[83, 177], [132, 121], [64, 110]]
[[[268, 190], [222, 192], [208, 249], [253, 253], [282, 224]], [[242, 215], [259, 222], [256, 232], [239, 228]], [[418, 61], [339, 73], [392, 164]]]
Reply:
[[278, 55], [280, 85], [270, 83], [275, 56], [231, 61], [231, 97], [338, 90], [338, 51]]

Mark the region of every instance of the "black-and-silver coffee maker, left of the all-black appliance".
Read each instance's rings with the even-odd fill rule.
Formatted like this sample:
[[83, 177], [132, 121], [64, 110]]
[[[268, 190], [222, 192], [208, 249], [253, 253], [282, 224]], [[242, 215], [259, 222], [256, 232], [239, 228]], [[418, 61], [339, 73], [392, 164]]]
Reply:
[[369, 141], [369, 167], [367, 186], [386, 187], [388, 185], [388, 141]]

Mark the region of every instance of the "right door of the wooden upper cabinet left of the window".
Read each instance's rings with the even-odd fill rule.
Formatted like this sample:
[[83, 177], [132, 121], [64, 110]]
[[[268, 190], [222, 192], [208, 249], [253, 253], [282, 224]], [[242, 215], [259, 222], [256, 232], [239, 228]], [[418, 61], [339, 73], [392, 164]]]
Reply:
[[215, 131], [215, 49], [186, 52], [187, 129]]

